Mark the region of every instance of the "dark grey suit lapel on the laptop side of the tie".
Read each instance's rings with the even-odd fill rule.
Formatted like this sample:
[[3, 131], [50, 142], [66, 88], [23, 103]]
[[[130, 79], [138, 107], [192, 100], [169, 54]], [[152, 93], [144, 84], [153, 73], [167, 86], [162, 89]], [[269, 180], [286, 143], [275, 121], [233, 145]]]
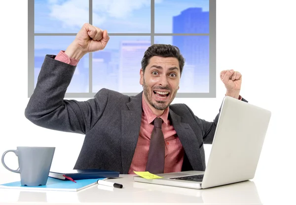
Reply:
[[172, 125], [180, 138], [185, 154], [187, 155], [193, 170], [203, 171], [204, 167], [202, 165], [199, 143], [195, 133], [187, 123], [181, 122], [181, 117], [171, 109], [169, 114]]

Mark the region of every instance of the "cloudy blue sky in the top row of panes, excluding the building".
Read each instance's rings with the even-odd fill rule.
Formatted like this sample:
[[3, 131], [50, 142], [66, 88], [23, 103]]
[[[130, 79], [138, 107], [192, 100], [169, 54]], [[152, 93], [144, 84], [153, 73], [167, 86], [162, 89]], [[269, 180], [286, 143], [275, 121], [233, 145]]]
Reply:
[[[172, 33], [172, 17], [209, 0], [155, 0], [155, 33]], [[77, 33], [88, 22], [88, 0], [35, 0], [35, 33]], [[109, 33], [150, 33], [150, 0], [93, 0], [93, 25]]]

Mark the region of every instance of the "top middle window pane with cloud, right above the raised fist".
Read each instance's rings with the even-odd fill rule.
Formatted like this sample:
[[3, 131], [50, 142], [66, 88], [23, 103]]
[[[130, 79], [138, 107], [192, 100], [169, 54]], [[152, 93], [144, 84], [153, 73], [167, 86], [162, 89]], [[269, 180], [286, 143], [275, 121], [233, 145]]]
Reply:
[[150, 0], [93, 0], [93, 25], [109, 33], [150, 33]]

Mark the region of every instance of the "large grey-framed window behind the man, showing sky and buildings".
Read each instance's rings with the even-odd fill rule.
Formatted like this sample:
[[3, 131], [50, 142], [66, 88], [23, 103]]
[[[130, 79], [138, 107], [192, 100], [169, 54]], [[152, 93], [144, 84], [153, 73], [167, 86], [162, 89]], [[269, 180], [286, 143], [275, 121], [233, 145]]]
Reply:
[[92, 98], [101, 88], [143, 90], [141, 60], [153, 43], [185, 57], [177, 97], [216, 97], [216, 0], [29, 0], [28, 96], [46, 54], [66, 50], [86, 22], [108, 30], [102, 51], [78, 63], [65, 97]]

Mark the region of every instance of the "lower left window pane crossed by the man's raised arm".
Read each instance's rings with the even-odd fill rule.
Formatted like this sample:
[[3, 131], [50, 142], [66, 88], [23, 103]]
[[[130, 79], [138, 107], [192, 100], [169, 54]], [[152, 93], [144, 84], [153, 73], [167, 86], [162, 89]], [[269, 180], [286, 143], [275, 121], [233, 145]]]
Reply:
[[[66, 50], [74, 38], [75, 36], [35, 36], [35, 87], [45, 55], [57, 55], [61, 50]], [[67, 89], [67, 93], [89, 92], [88, 83], [88, 55], [85, 55], [82, 59], [80, 59], [75, 69], [74, 76]]]

